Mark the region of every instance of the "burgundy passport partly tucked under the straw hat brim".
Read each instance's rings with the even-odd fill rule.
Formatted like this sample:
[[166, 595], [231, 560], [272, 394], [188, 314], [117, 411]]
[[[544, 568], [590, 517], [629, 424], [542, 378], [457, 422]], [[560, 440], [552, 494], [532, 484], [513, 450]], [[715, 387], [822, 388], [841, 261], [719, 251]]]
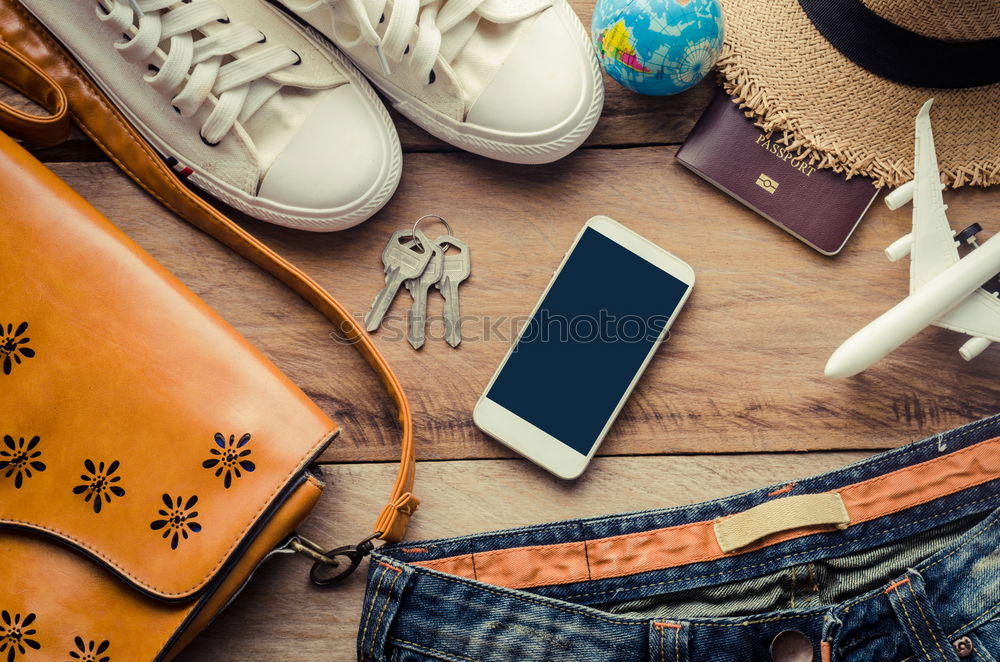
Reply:
[[719, 90], [677, 160], [826, 255], [847, 243], [878, 194], [867, 177], [818, 170], [754, 126]]

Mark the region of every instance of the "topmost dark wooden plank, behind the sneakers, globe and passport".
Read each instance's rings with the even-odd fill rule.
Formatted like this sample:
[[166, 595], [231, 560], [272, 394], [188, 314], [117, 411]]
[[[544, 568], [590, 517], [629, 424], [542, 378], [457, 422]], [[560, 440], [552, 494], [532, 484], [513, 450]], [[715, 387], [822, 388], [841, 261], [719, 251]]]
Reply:
[[[589, 28], [593, 13], [590, 0], [571, 0], [581, 21]], [[604, 113], [586, 145], [592, 147], [623, 145], [675, 145], [681, 143], [701, 110], [708, 105], [712, 95], [711, 82], [704, 82], [682, 94], [670, 97], [646, 97], [635, 94], [613, 81], [607, 75], [605, 82]], [[0, 85], [0, 102], [18, 107], [34, 107], [19, 95]], [[35, 107], [37, 108], [37, 107]], [[391, 111], [405, 152], [456, 151], [426, 131]], [[97, 148], [81, 133], [74, 132], [71, 140], [58, 147], [34, 150], [43, 161], [105, 160]]]

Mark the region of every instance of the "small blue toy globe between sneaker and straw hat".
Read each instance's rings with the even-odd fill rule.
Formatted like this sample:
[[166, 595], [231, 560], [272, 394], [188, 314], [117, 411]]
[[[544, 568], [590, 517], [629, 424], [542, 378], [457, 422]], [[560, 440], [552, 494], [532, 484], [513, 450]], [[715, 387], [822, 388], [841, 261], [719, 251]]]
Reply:
[[608, 75], [651, 96], [677, 94], [704, 78], [724, 32], [718, 0], [597, 0], [591, 22]]

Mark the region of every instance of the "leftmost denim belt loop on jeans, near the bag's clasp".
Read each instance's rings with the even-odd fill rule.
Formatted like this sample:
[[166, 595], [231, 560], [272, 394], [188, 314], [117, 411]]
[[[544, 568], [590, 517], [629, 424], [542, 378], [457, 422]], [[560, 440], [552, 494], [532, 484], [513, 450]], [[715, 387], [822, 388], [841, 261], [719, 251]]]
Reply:
[[413, 570], [373, 556], [358, 630], [358, 662], [384, 662], [389, 630], [402, 603]]

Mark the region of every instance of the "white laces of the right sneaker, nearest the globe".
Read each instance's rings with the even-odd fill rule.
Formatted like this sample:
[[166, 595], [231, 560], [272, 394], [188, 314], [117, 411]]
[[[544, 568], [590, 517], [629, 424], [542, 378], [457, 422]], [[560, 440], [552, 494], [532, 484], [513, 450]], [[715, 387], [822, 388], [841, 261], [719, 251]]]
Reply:
[[[465, 31], [464, 38], [445, 40], [444, 35], [463, 23], [479, 9], [485, 0], [393, 0], [388, 12], [387, 0], [338, 0], [350, 11], [361, 32], [361, 38], [374, 47], [386, 76], [392, 74], [390, 61], [401, 63], [407, 55], [410, 68], [421, 80], [434, 82], [432, 70], [440, 54], [446, 61], [455, 59], [475, 31], [475, 24]], [[303, 7], [311, 11], [327, 4], [329, 0], [316, 0]], [[385, 32], [381, 36], [376, 28], [388, 16]], [[478, 22], [478, 21], [476, 21]], [[416, 26], [416, 39], [414, 39]]]

